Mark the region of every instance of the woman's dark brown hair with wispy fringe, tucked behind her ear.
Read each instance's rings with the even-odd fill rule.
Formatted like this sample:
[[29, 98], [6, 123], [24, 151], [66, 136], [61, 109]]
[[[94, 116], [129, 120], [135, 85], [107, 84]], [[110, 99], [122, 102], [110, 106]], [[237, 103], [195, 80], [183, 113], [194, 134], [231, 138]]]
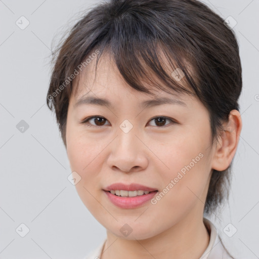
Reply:
[[[239, 111], [239, 47], [219, 15], [195, 0], [110, 0], [84, 14], [53, 52], [47, 104], [55, 108], [65, 146], [69, 98], [78, 87], [71, 78], [95, 53], [96, 69], [101, 55], [109, 53], [137, 91], [151, 94], [146, 82], [161, 91], [195, 95], [208, 109], [212, 143], [221, 137], [230, 111]], [[171, 65], [169, 72], [161, 54]], [[185, 87], [171, 75], [175, 68], [183, 71]], [[229, 197], [231, 165], [212, 170], [204, 212], [213, 212]]]

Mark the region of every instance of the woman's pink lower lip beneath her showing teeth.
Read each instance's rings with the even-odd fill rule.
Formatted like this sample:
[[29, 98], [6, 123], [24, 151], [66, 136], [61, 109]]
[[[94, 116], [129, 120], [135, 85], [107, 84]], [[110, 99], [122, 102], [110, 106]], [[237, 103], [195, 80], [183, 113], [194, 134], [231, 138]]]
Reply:
[[109, 200], [116, 206], [120, 208], [136, 208], [143, 205], [148, 200], [152, 199], [152, 197], [157, 193], [150, 192], [148, 194], [136, 196], [136, 197], [121, 197], [116, 196], [115, 194], [111, 194], [108, 191], [104, 191], [108, 196]]

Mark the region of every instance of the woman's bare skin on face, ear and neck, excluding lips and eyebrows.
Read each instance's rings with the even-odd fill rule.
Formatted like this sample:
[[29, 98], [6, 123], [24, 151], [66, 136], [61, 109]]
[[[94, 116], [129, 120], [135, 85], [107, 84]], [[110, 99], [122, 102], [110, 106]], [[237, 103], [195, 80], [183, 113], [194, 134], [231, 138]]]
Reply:
[[[75, 185], [78, 195], [107, 230], [101, 258], [199, 258], [209, 243], [202, 219], [211, 171], [224, 170], [232, 161], [242, 127], [240, 113], [231, 111], [216, 146], [210, 143], [208, 110], [196, 97], [154, 89], [187, 107], [163, 104], [143, 110], [140, 104], [153, 97], [129, 87], [112, 61], [100, 60], [97, 71], [94, 81], [93, 61], [80, 76], [77, 95], [69, 100], [66, 148], [71, 170], [81, 177]], [[88, 95], [104, 97], [114, 107], [74, 106]], [[98, 124], [92, 119], [92, 127], [79, 123], [90, 116], [106, 120]], [[176, 123], [167, 119], [160, 126], [154, 116]], [[133, 125], [128, 133], [119, 127], [125, 119]], [[203, 157], [154, 205], [148, 201], [134, 209], [118, 208], [102, 190], [122, 182], [161, 192], [199, 153]], [[133, 230], [127, 237], [120, 232], [124, 224]]]

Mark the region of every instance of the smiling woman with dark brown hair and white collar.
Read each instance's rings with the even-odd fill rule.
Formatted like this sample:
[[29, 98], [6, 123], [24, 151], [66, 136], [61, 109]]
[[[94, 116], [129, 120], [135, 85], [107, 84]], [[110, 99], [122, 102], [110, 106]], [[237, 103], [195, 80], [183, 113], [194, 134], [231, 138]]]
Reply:
[[204, 213], [242, 127], [236, 37], [191, 0], [111, 0], [57, 50], [47, 97], [76, 190], [106, 228], [86, 258], [233, 258]]

